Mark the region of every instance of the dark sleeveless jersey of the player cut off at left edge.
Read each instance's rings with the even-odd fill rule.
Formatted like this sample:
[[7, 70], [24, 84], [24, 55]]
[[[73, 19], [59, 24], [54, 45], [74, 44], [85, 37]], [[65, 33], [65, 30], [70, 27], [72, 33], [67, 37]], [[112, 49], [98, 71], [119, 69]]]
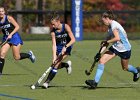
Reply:
[[2, 29], [2, 33], [4, 35], [9, 35], [14, 30], [14, 25], [8, 21], [7, 16], [4, 16], [4, 22], [0, 22], [0, 28]]

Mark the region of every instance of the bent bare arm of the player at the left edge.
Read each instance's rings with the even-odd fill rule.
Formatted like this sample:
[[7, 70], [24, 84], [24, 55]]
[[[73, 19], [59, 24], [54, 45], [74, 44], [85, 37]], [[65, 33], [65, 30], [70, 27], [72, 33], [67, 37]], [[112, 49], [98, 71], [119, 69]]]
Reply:
[[14, 33], [16, 33], [19, 30], [19, 25], [12, 16], [8, 16], [8, 21], [12, 23], [15, 27], [14, 30], [9, 34], [12, 36]]

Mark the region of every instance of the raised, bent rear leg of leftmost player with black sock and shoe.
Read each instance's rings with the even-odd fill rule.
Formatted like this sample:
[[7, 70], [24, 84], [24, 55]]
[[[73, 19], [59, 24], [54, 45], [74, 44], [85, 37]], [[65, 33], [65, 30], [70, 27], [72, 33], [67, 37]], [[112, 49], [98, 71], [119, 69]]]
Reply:
[[29, 51], [29, 53], [20, 53], [21, 44], [15, 46], [12, 45], [12, 51], [13, 51], [13, 57], [15, 60], [22, 60], [29, 58], [33, 63], [35, 62], [35, 56], [32, 51]]

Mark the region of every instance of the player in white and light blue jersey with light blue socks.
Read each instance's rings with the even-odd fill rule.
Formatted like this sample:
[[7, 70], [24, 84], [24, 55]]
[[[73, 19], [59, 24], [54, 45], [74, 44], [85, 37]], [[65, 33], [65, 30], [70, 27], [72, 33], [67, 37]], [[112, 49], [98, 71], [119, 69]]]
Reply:
[[135, 68], [133, 65], [128, 64], [131, 56], [131, 44], [128, 41], [126, 31], [114, 20], [114, 15], [110, 10], [103, 13], [101, 20], [103, 24], [108, 26], [107, 39], [102, 41], [101, 45], [108, 46], [109, 43], [112, 43], [112, 45], [100, 58], [94, 79], [86, 80], [85, 83], [95, 89], [104, 72], [105, 64], [116, 56], [121, 58], [122, 69], [133, 73], [133, 81], [138, 81], [140, 67]]

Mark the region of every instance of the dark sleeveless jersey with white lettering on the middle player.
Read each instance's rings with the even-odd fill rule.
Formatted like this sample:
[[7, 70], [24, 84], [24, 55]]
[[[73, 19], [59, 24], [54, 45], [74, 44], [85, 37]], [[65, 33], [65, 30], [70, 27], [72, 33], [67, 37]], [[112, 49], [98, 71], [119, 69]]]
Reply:
[[65, 24], [62, 24], [61, 32], [58, 32], [57, 29], [53, 28], [53, 32], [55, 33], [56, 45], [64, 46], [70, 42], [70, 37], [65, 30]]

